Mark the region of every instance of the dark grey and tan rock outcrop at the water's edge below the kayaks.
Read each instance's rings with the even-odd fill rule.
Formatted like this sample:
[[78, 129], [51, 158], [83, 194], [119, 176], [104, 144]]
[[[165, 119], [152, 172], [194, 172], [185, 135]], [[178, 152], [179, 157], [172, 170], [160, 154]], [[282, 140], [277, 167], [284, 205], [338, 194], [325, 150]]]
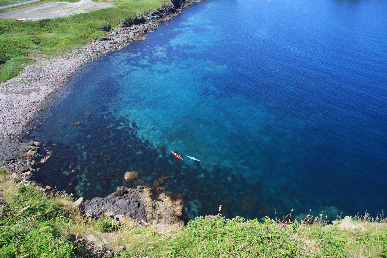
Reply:
[[128, 217], [139, 224], [159, 227], [183, 225], [183, 200], [171, 200], [165, 193], [161, 193], [158, 200], [153, 200], [152, 190], [146, 186], [137, 188], [120, 186], [105, 198], [97, 197], [85, 201], [84, 212], [92, 217], [106, 214], [116, 220]]

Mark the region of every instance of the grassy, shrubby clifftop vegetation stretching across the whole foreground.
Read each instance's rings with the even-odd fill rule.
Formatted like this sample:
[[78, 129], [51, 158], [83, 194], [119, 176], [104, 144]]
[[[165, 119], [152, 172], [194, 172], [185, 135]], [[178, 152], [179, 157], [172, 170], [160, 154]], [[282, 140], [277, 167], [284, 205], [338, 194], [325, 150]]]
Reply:
[[132, 220], [86, 217], [71, 195], [24, 186], [0, 169], [0, 257], [93, 257], [79, 236], [119, 236], [114, 257], [387, 257], [386, 219], [355, 217], [353, 229], [321, 217], [300, 222], [269, 217], [253, 220], [221, 215], [197, 217], [180, 229], [162, 232]]

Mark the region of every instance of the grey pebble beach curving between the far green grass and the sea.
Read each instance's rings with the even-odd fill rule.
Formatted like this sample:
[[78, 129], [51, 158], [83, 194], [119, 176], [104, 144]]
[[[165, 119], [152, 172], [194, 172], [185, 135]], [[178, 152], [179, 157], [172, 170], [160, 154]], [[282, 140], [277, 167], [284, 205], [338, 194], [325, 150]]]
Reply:
[[161, 22], [169, 21], [185, 7], [200, 1], [172, 0], [157, 11], [145, 13], [142, 19], [123, 22], [121, 28], [100, 28], [109, 32], [82, 48], [26, 65], [19, 76], [0, 83], [0, 139], [19, 138], [34, 114], [41, 111], [42, 102], [84, 64], [132, 41], [146, 38], [144, 34], [157, 29]]

